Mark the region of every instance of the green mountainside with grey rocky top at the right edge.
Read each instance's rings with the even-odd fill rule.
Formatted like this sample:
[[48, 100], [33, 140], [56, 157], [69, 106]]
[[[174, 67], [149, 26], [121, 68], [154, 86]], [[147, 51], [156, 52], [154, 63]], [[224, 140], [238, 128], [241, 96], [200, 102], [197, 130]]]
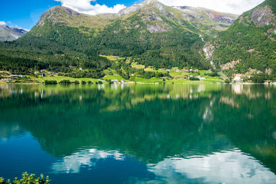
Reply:
[[234, 72], [276, 71], [276, 1], [266, 0], [244, 12], [213, 40], [211, 60], [217, 68]]

